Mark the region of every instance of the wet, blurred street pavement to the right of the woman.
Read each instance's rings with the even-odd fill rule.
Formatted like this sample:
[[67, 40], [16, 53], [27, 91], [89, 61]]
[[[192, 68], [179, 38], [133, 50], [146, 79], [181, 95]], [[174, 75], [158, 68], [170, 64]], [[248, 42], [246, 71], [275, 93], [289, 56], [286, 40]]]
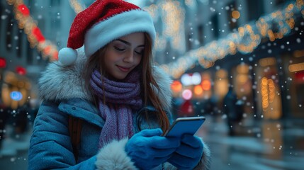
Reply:
[[208, 117], [198, 135], [211, 149], [211, 169], [303, 169], [303, 123], [261, 120], [259, 124], [244, 125], [229, 137], [223, 119]]

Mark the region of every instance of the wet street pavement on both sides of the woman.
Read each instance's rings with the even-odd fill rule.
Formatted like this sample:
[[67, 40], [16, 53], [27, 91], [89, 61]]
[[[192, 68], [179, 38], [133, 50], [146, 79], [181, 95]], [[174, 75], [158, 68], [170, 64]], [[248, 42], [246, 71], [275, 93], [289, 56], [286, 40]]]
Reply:
[[[236, 134], [229, 136], [225, 118], [206, 116], [197, 135], [210, 147], [211, 169], [304, 169], [304, 120], [246, 120], [234, 128]], [[6, 137], [1, 170], [27, 169], [29, 140], [30, 130]]]

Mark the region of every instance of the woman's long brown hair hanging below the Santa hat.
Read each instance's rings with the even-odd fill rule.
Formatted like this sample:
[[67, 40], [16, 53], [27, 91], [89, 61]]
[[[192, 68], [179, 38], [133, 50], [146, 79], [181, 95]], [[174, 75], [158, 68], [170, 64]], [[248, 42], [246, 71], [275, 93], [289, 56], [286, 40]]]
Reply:
[[[106, 76], [106, 70], [104, 67], [106, 61], [104, 61], [103, 56], [107, 50], [107, 46], [108, 45], [102, 47], [100, 50], [95, 52], [94, 55], [91, 55], [91, 57], [89, 57], [89, 59], [87, 60], [84, 66], [84, 71], [85, 71], [83, 72], [84, 87], [86, 88], [86, 91], [89, 91], [89, 95], [91, 95], [91, 97], [94, 98], [94, 103], [96, 104], [96, 106], [98, 106], [97, 105], [98, 98], [94, 95], [91, 86], [89, 84], [89, 81], [91, 79], [91, 74], [94, 71], [94, 69], [100, 70], [101, 74]], [[145, 106], [147, 106], [148, 103], [151, 103], [152, 106], [154, 106], [154, 108], [157, 111], [155, 112], [157, 114], [156, 115], [157, 122], [160, 128], [162, 128], [163, 132], [166, 132], [169, 128], [169, 120], [167, 118], [167, 114], [162, 109], [163, 107], [159, 100], [159, 96], [153, 90], [154, 87], [158, 91], [160, 91], [157, 81], [154, 79], [152, 75], [152, 66], [153, 66], [152, 40], [150, 38], [150, 35], [145, 33], [144, 54], [142, 56], [142, 60], [140, 61], [140, 64], [135, 69], [141, 69], [140, 80], [142, 82], [141, 84], [142, 100]], [[149, 115], [147, 115], [147, 113], [145, 113], [145, 118], [149, 123]]]

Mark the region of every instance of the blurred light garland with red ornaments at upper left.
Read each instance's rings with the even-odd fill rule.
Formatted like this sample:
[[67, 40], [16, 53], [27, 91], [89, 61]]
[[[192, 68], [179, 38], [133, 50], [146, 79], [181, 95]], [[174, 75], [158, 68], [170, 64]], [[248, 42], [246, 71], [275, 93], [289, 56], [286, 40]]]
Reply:
[[15, 18], [18, 21], [18, 27], [24, 29], [28, 35], [30, 47], [37, 47], [42, 53], [43, 58], [48, 57], [51, 61], [58, 59], [58, 50], [50, 40], [46, 40], [38, 28], [37, 24], [30, 16], [30, 10], [23, 4], [23, 0], [6, 0], [9, 5], [13, 5]]

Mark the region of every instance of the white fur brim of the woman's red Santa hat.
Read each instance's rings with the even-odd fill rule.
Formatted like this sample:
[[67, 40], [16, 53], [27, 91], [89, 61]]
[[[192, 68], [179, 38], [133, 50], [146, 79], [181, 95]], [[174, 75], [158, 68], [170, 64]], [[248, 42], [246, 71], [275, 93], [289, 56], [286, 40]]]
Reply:
[[146, 32], [154, 41], [156, 32], [149, 13], [132, 10], [112, 16], [92, 26], [84, 38], [86, 56], [93, 55], [101, 47], [130, 33]]

